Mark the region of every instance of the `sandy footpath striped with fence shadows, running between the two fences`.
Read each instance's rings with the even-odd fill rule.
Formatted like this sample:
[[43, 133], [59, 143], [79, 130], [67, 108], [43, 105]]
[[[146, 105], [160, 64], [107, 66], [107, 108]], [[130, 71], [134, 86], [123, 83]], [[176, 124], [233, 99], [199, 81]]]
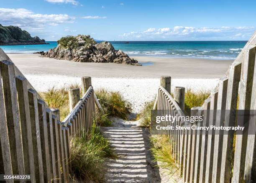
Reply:
[[[138, 121], [113, 118], [113, 127], [101, 127], [103, 135], [114, 147], [117, 159], [109, 159], [108, 183], [160, 183], [159, 168], [152, 162], [149, 133]], [[163, 182], [162, 182], [163, 183]]]

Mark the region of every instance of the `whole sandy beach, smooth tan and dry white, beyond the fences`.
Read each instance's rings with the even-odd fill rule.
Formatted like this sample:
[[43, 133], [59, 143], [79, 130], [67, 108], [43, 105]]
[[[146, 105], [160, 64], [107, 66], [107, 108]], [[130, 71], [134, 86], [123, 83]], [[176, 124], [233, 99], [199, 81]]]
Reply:
[[[133, 57], [146, 66], [114, 63], [76, 63], [41, 58], [38, 54], [8, 54], [37, 91], [81, 83], [82, 76], [91, 76], [97, 90], [120, 91], [138, 113], [145, 102], [154, 99], [161, 75], [172, 77], [174, 86], [192, 90], [211, 90], [218, 84], [233, 60], [189, 58]], [[214, 68], [214, 69], [212, 69]]]

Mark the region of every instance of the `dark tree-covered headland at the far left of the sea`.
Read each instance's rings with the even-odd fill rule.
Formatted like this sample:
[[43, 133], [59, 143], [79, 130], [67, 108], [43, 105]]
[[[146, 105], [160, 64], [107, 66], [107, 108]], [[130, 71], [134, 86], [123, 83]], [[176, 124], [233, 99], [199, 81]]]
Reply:
[[49, 44], [38, 36], [31, 37], [26, 30], [15, 26], [0, 24], [0, 45], [41, 45]]

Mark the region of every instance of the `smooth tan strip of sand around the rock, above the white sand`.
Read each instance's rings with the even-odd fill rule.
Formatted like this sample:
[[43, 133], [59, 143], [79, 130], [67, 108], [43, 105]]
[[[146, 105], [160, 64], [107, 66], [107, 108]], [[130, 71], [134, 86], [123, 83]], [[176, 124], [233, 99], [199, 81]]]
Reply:
[[[8, 54], [24, 74], [91, 76], [97, 78], [221, 78], [233, 60], [197, 58], [131, 57], [144, 66], [117, 63], [80, 63], [43, 58], [39, 54]], [[151, 64], [153, 63], [153, 64]], [[214, 70], [212, 70], [214, 68]]]

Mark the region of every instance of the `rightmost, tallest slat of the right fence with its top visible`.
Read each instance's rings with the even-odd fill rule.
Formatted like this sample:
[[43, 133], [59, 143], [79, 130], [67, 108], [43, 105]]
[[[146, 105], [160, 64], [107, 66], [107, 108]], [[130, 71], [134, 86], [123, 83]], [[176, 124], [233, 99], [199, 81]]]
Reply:
[[[239, 82], [239, 101], [238, 110], [250, 110], [251, 108], [251, 92], [253, 85], [253, 70], [255, 66], [255, 54], [256, 46], [251, 46], [248, 49], [244, 49], [245, 59], [242, 63], [241, 68], [241, 80]], [[244, 125], [246, 128], [248, 120], [247, 111], [243, 112], [245, 115], [238, 115], [238, 121], [240, 125]], [[236, 146], [234, 154], [234, 166], [233, 166], [233, 182], [243, 182], [244, 168], [245, 168], [245, 156], [246, 156], [246, 146], [247, 146], [247, 133], [237, 132], [243, 135], [236, 135]]]

